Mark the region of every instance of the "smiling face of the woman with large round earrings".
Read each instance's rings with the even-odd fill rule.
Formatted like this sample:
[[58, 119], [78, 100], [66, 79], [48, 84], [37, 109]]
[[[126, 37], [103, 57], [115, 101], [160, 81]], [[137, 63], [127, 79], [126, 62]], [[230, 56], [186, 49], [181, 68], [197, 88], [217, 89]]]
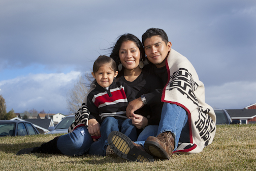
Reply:
[[119, 50], [119, 58], [123, 67], [127, 70], [133, 70], [139, 67], [140, 49], [133, 41], [125, 41]]

